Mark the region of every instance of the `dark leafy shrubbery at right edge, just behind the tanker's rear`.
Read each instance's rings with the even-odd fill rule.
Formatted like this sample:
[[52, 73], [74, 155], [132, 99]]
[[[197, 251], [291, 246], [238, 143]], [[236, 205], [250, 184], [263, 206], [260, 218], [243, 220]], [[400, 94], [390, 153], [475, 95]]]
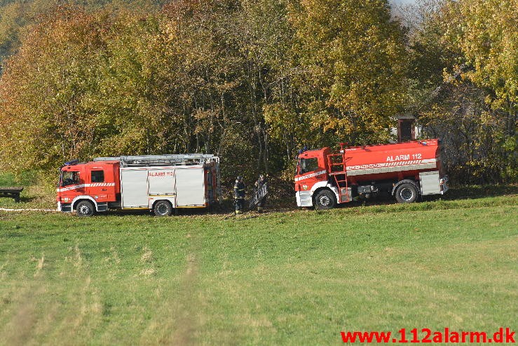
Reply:
[[442, 162], [455, 181], [489, 184], [516, 181], [516, 138], [506, 133], [505, 117], [484, 102], [469, 82], [445, 86], [419, 118], [426, 131], [445, 142]]

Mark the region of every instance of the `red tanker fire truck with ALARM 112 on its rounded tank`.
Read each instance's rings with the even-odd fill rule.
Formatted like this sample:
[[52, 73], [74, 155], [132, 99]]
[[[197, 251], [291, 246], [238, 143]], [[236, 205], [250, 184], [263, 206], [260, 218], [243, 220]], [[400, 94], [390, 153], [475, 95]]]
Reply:
[[440, 141], [419, 140], [389, 145], [328, 147], [299, 154], [295, 191], [298, 206], [334, 208], [336, 204], [379, 195], [411, 203], [419, 196], [444, 194]]

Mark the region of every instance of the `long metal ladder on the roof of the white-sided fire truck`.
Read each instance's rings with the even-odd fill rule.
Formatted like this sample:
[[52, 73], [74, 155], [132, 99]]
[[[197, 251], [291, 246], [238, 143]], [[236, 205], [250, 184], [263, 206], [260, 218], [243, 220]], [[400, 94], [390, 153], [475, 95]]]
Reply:
[[93, 161], [120, 161], [121, 167], [196, 166], [209, 162], [219, 163], [219, 157], [215, 157], [212, 154], [136, 155], [122, 157], [96, 157]]

